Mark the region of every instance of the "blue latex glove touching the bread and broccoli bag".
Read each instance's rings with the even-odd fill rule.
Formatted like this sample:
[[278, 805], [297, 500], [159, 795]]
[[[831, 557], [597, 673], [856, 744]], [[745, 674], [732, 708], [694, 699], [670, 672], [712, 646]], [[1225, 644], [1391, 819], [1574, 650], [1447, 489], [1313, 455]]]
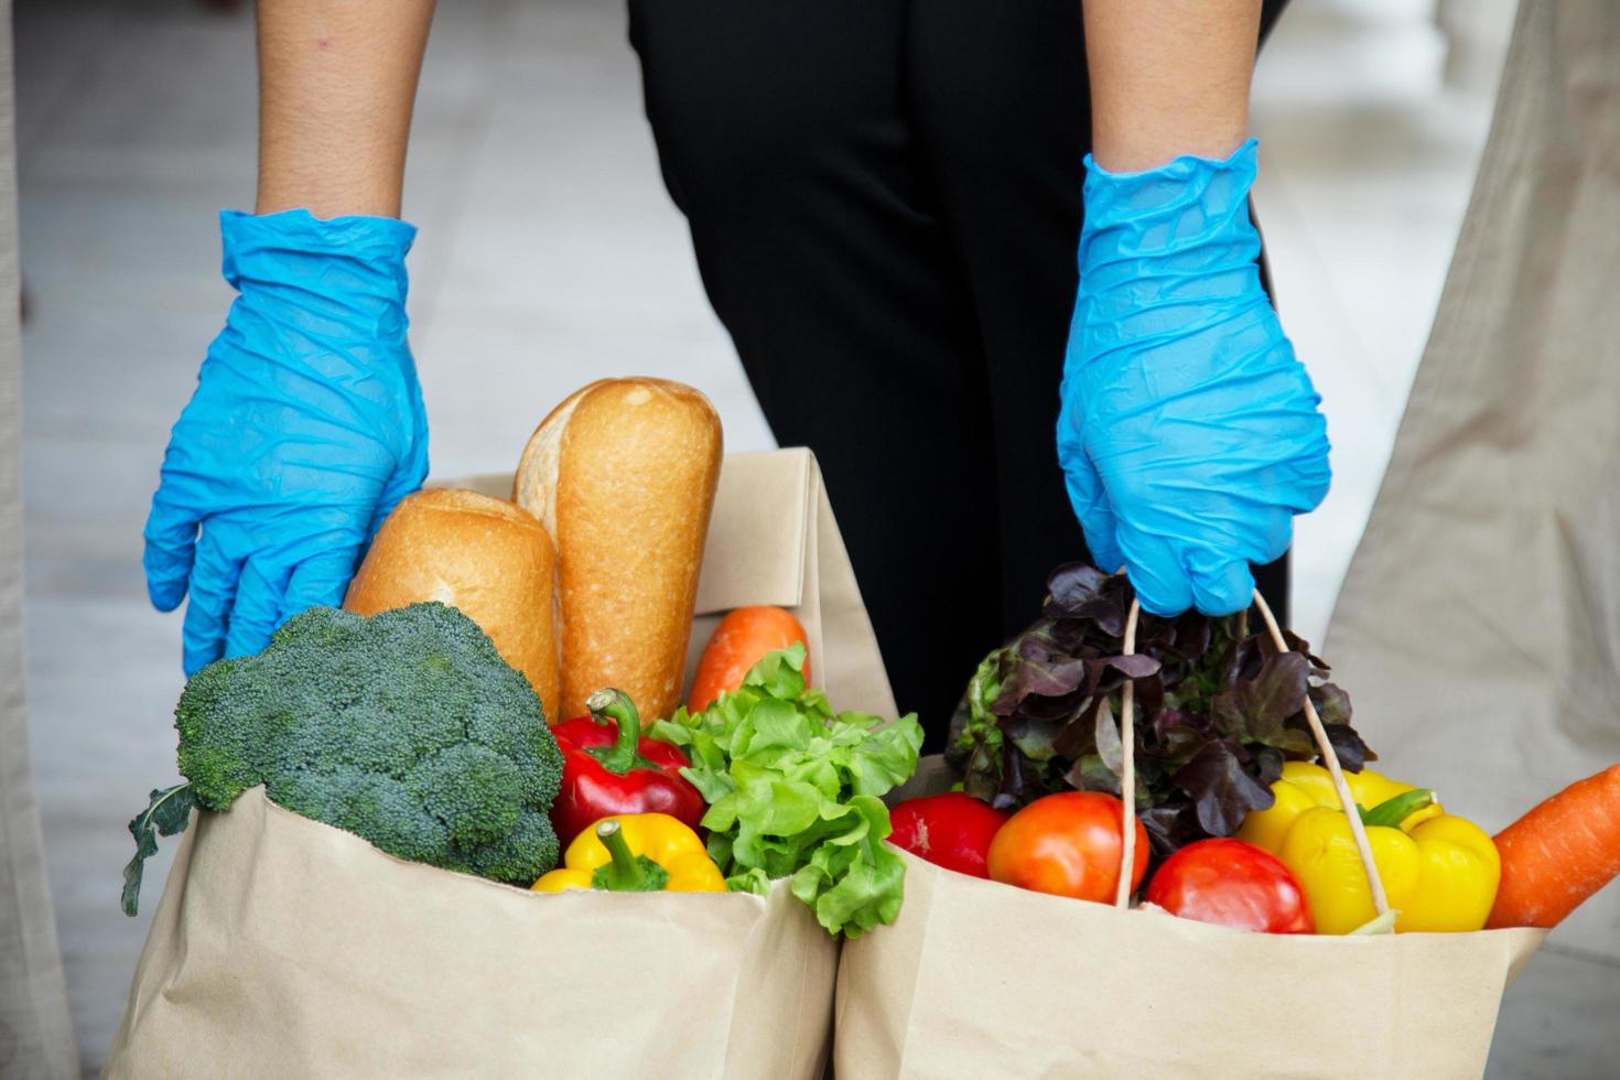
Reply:
[[364, 546], [428, 474], [428, 418], [405, 343], [415, 227], [306, 210], [220, 214], [240, 293], [164, 453], [146, 588], [186, 591], [185, 669], [256, 653], [340, 604]]

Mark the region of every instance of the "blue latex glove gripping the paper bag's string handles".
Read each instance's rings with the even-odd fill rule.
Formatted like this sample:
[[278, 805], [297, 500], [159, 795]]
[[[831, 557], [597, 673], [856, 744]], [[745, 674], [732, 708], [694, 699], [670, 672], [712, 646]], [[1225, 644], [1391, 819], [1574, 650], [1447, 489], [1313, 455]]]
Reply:
[[1085, 159], [1058, 460], [1085, 542], [1158, 615], [1249, 606], [1249, 563], [1327, 495], [1327, 424], [1260, 287], [1256, 144], [1116, 175]]

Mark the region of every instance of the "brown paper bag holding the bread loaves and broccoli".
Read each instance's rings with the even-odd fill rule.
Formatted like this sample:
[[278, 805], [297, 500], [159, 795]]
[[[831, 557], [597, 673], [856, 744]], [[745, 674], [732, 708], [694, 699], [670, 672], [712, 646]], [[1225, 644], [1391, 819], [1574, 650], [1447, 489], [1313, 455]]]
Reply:
[[[700, 609], [739, 604], [791, 607], [833, 699], [893, 716], [807, 450], [726, 458]], [[810, 1078], [836, 968], [786, 881], [535, 894], [397, 860], [254, 789], [181, 837], [107, 1075]]]

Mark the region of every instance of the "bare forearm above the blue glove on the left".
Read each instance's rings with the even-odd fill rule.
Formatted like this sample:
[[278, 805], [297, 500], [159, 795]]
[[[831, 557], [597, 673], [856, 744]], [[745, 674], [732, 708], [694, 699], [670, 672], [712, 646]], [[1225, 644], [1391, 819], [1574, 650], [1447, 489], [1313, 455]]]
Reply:
[[259, 0], [259, 214], [399, 217], [433, 8]]

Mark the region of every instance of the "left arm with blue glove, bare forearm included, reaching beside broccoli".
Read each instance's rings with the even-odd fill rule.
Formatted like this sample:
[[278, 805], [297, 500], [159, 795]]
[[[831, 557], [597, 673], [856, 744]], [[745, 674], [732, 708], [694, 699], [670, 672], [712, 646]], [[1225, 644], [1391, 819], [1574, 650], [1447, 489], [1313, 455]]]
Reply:
[[337, 606], [428, 473], [399, 220], [433, 0], [259, 2], [258, 212], [220, 214], [237, 300], [146, 520], [159, 610], [190, 596], [188, 675]]

